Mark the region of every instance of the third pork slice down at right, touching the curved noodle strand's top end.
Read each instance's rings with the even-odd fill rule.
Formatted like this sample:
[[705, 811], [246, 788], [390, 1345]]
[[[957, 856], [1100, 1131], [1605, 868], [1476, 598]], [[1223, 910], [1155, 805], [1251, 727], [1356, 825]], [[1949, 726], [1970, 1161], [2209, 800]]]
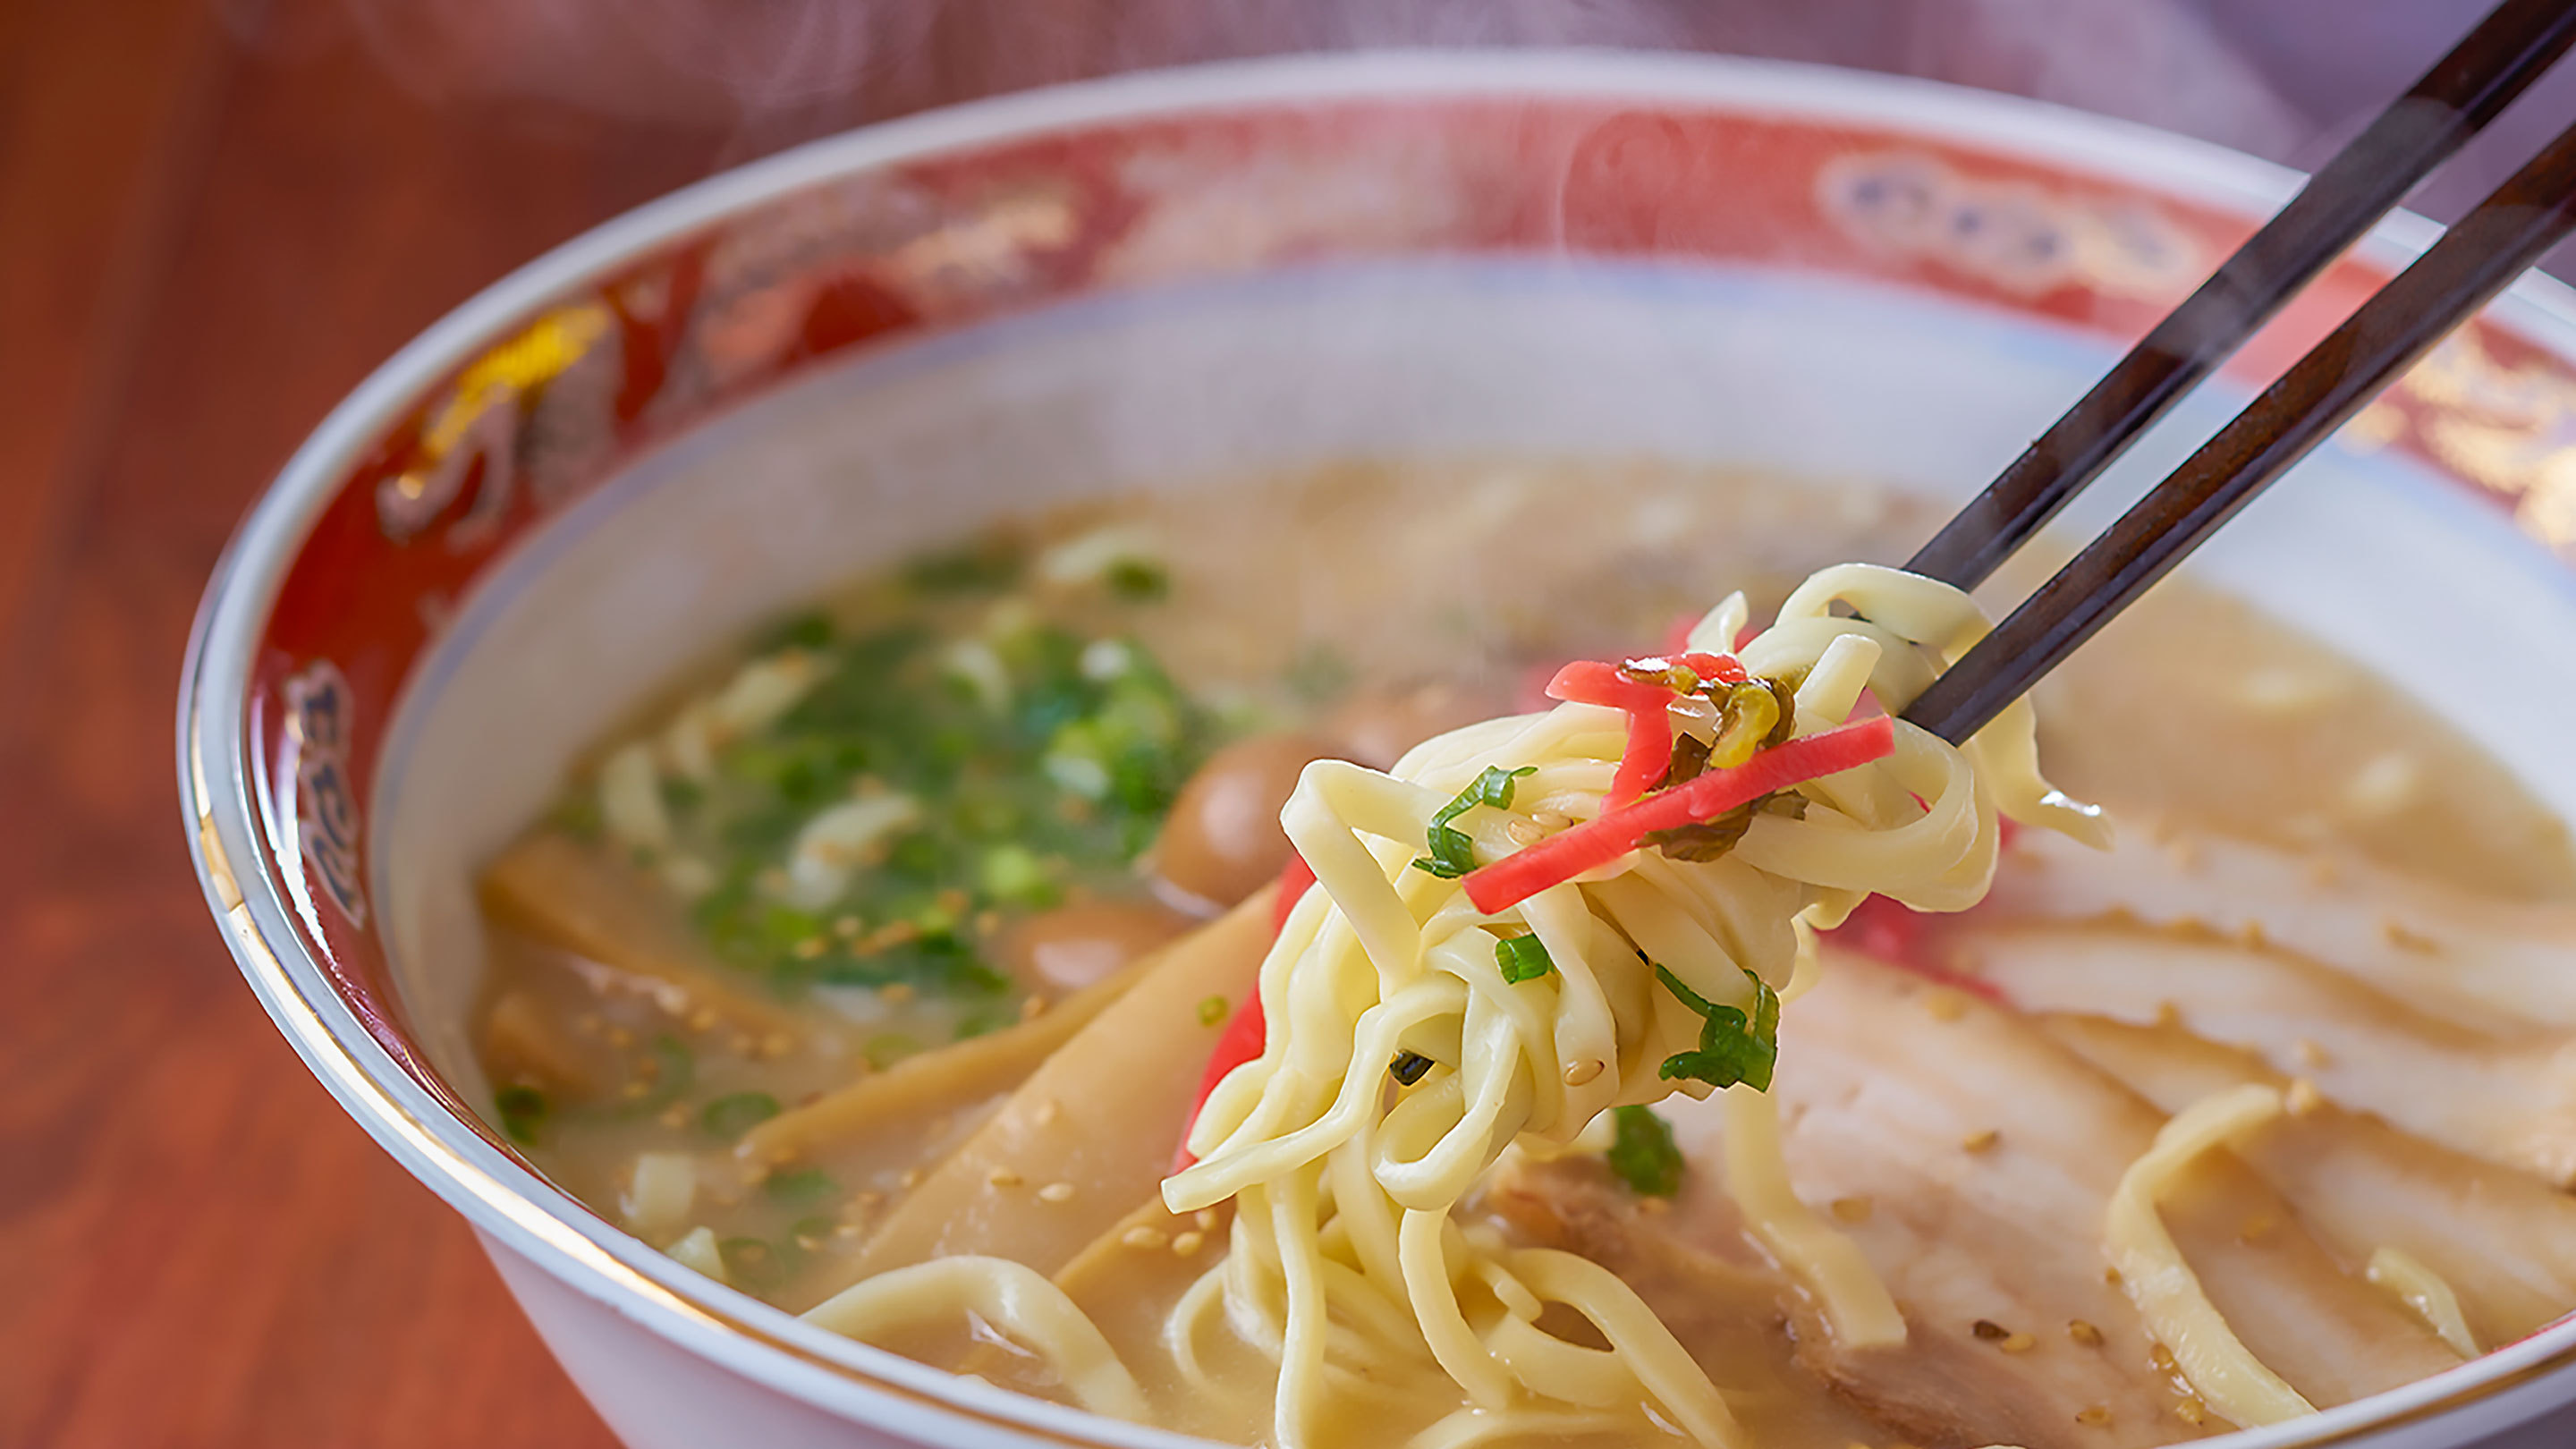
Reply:
[[[2290, 1083], [2251, 1052], [2179, 1026], [2050, 1016], [2048, 1031], [2164, 1111], [2244, 1083]], [[2494, 1348], [2576, 1307], [2576, 1199], [2331, 1104], [2236, 1142], [2236, 1155], [2347, 1263], [2401, 1248], [2442, 1274]]]

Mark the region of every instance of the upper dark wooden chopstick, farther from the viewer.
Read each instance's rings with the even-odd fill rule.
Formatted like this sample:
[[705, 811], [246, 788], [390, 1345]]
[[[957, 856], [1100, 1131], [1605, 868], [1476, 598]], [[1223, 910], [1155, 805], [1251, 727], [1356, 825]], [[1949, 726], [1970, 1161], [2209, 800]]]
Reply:
[[1976, 588], [2156, 418], [2576, 44], [2576, 3], [2504, 0], [2174, 307], [1909, 570]]

